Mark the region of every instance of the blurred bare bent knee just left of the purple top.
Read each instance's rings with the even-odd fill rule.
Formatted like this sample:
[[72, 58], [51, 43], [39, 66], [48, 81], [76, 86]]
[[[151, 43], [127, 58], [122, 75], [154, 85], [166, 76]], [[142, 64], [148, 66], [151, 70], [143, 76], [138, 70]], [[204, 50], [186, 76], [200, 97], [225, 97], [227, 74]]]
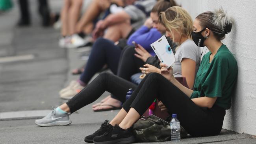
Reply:
[[126, 38], [131, 30], [132, 26], [128, 22], [115, 24], [108, 28], [108, 30], [104, 34], [104, 38], [115, 42], [121, 38]]

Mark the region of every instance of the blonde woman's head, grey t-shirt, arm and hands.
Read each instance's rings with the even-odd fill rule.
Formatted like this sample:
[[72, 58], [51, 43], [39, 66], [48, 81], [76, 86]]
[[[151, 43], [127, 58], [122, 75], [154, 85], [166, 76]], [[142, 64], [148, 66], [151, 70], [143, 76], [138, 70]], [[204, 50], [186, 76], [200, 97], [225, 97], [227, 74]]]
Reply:
[[[195, 75], [200, 65], [200, 48], [196, 46], [191, 39], [191, 33], [193, 31], [193, 21], [189, 15], [182, 15], [176, 20], [173, 13], [163, 13], [165, 19], [160, 19], [161, 24], [165, 26], [166, 37], [173, 39], [179, 46], [176, 48], [175, 58], [176, 61], [172, 65], [173, 76], [175, 78], [185, 77], [189, 89], [193, 88]], [[138, 58], [144, 59], [148, 52], [143, 47], [138, 45], [135, 48], [138, 53]], [[141, 72], [148, 74], [150, 72], [161, 73], [159, 68], [146, 64], [143, 68], [140, 68]]]

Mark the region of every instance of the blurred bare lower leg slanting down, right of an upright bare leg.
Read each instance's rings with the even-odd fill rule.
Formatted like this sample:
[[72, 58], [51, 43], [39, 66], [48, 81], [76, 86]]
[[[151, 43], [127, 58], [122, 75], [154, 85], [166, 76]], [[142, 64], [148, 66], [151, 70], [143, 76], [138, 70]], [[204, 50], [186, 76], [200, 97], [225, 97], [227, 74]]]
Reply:
[[87, 24], [93, 22], [98, 15], [102, 11], [105, 11], [110, 6], [110, 2], [108, 0], [93, 0], [90, 6], [88, 7], [87, 11], [83, 13], [82, 18], [79, 20], [76, 32], [83, 31], [83, 27]]

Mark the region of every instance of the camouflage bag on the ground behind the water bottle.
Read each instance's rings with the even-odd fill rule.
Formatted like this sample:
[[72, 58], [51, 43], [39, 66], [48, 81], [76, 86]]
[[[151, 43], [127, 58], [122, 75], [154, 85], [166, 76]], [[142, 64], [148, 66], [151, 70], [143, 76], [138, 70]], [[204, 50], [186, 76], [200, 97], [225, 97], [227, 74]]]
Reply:
[[[171, 126], [169, 122], [150, 115], [142, 116], [134, 125], [133, 133], [137, 142], [164, 142], [171, 140]], [[186, 130], [180, 126], [180, 137], [187, 136]]]

